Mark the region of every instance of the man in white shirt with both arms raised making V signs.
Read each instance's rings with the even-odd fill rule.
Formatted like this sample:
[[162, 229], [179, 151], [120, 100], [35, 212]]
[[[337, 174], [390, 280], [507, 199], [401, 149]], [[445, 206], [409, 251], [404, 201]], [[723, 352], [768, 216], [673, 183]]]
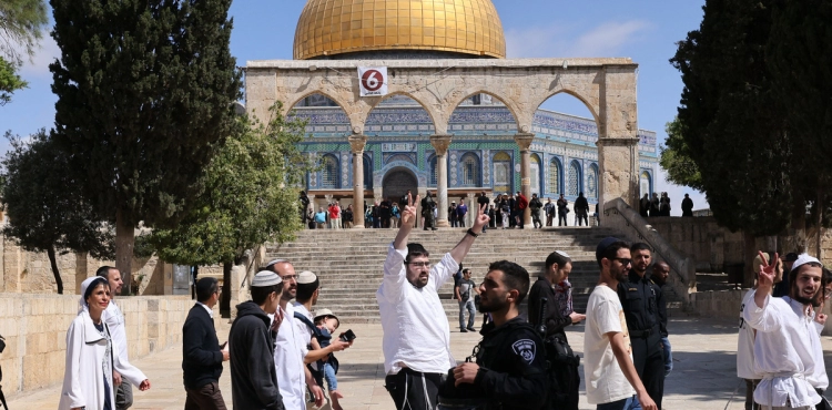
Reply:
[[418, 196], [415, 201], [408, 196], [376, 293], [384, 330], [385, 387], [398, 410], [435, 409], [442, 375], [456, 367], [450, 356], [450, 328], [437, 290], [457, 271], [488, 223], [488, 215], [478, 208], [465, 237], [430, 267], [428, 252], [419, 244], [407, 243], [417, 203]]

